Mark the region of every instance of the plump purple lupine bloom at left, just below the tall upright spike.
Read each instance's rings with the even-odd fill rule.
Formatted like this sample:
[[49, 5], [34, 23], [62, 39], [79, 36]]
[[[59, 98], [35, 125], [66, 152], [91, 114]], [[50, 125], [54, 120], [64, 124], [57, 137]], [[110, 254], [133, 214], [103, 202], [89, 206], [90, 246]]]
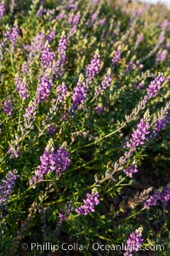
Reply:
[[52, 79], [48, 79], [45, 77], [41, 78], [41, 81], [39, 82], [37, 86], [37, 103], [43, 102], [48, 97], [50, 90], [53, 86]]

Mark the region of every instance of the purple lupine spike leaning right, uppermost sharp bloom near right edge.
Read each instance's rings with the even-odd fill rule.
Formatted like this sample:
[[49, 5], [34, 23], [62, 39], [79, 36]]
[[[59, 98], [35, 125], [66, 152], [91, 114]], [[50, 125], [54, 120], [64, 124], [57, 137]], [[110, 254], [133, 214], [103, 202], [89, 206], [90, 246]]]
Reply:
[[159, 73], [156, 79], [150, 82], [147, 88], [147, 95], [149, 98], [156, 96], [156, 93], [161, 88], [161, 84], [165, 81], [162, 73]]

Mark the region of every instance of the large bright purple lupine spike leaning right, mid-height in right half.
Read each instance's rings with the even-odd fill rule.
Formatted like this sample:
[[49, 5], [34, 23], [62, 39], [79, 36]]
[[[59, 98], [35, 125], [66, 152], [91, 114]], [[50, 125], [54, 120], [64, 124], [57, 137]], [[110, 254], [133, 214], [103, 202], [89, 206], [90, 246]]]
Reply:
[[127, 148], [131, 148], [132, 151], [136, 150], [139, 145], [143, 145], [146, 139], [146, 135], [150, 133], [150, 123], [144, 119], [140, 119], [137, 125], [138, 129], [133, 131], [130, 142], [127, 142]]

